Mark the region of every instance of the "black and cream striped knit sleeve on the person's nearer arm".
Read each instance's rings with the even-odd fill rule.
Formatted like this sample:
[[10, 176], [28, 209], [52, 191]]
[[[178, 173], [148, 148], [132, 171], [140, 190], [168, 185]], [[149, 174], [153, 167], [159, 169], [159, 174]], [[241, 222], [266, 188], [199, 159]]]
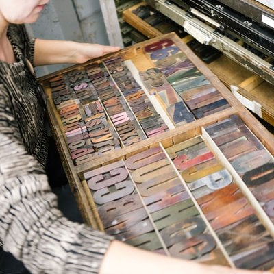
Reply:
[[56, 208], [40, 164], [25, 151], [0, 86], [0, 242], [32, 273], [98, 273], [111, 236]]

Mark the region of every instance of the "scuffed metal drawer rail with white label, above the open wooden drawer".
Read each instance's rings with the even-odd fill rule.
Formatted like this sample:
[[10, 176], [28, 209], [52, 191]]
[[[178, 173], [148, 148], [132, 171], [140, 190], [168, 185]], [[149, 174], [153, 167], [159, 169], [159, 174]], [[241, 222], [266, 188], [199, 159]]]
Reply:
[[171, 1], [147, 0], [146, 2], [179, 25], [182, 25], [188, 34], [202, 44], [219, 49], [227, 57], [260, 75], [267, 82], [274, 84], [274, 66], [271, 64], [271, 58], [258, 56], [256, 51], [242, 47], [242, 41], [232, 40], [230, 36], [220, 32], [217, 26], [201, 21], [200, 18], [195, 17]]

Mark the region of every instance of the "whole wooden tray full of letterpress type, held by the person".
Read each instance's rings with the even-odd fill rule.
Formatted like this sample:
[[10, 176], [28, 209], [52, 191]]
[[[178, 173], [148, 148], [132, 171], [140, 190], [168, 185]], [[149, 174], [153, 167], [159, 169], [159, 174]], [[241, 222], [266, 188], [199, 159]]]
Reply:
[[[174, 93], [160, 94], [161, 100], [151, 94], [141, 77], [149, 69], [153, 88], [162, 84], [153, 79], [160, 73]], [[273, 264], [273, 136], [175, 34], [40, 82], [71, 187], [92, 227], [136, 247], [207, 264]], [[178, 100], [193, 121], [174, 123], [184, 114]], [[210, 112], [222, 100], [225, 108]], [[235, 227], [245, 240], [252, 225], [252, 248], [258, 244], [263, 254], [256, 260], [229, 230]]]

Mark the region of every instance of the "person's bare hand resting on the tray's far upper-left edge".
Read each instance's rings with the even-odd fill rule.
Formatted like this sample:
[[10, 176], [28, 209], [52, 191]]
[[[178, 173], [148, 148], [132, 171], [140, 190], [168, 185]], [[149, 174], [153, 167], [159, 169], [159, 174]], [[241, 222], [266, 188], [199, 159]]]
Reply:
[[75, 57], [77, 63], [84, 63], [92, 58], [101, 57], [108, 53], [119, 51], [120, 47], [104, 46], [99, 44], [79, 43]]

